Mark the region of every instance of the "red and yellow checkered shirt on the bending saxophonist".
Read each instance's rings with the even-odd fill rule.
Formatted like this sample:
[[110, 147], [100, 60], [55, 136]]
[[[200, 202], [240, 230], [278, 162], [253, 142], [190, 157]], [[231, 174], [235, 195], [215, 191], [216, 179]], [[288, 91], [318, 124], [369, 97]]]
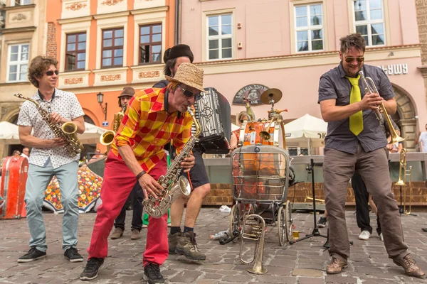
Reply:
[[122, 124], [112, 143], [112, 153], [121, 158], [117, 148], [129, 145], [145, 171], [164, 158], [163, 148], [174, 139], [179, 153], [191, 136], [193, 120], [188, 112], [168, 114], [164, 109], [164, 89], [144, 89], [130, 100]]

